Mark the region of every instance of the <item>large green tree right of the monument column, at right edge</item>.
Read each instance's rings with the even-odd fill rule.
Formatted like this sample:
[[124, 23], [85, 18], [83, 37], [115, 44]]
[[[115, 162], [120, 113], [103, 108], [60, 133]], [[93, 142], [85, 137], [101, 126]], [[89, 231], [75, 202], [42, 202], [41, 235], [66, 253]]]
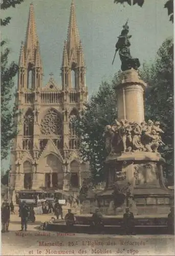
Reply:
[[162, 139], [162, 155], [166, 159], [166, 173], [173, 170], [173, 39], [166, 39], [152, 65], [144, 65], [142, 79], [147, 82], [146, 120], [159, 120], [165, 131]]

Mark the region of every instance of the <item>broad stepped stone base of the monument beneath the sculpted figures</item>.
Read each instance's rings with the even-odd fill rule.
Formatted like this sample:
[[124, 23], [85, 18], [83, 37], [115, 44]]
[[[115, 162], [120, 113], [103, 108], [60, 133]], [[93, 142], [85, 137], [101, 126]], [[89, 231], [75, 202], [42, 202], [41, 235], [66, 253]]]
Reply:
[[[106, 188], [93, 197], [86, 198], [82, 205], [82, 214], [90, 214], [95, 208], [100, 208], [103, 215], [123, 216], [125, 208], [129, 207], [134, 216], [137, 215], [168, 215], [173, 205], [174, 192], [164, 186], [162, 163], [164, 159], [159, 153], [127, 152], [109, 156], [106, 159], [108, 177]], [[115, 177], [120, 193], [115, 195]], [[121, 191], [130, 186], [130, 195], [119, 205]]]

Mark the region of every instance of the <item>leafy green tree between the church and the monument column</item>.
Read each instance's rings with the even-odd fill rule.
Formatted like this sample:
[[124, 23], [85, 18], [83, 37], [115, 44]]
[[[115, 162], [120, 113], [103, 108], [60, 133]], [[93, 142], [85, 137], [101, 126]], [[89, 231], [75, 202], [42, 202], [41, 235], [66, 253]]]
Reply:
[[104, 160], [107, 156], [104, 127], [117, 118], [114, 77], [111, 84], [102, 82], [96, 95], [85, 105], [85, 110], [74, 119], [76, 130], [81, 138], [80, 152], [85, 161], [90, 161], [92, 180], [95, 184], [104, 178]]

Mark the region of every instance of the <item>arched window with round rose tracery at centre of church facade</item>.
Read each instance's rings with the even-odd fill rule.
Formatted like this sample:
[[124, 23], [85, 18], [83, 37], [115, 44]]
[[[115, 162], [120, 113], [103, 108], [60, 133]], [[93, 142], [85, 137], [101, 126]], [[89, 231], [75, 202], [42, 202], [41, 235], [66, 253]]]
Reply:
[[41, 133], [45, 135], [59, 135], [62, 131], [62, 118], [56, 110], [49, 110], [41, 120]]

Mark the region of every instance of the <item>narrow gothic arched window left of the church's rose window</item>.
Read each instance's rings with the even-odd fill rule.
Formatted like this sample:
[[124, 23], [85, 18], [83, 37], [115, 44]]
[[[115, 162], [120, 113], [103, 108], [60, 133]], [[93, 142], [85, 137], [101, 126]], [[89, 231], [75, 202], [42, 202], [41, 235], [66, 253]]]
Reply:
[[33, 136], [33, 111], [29, 109], [24, 117], [24, 136]]

